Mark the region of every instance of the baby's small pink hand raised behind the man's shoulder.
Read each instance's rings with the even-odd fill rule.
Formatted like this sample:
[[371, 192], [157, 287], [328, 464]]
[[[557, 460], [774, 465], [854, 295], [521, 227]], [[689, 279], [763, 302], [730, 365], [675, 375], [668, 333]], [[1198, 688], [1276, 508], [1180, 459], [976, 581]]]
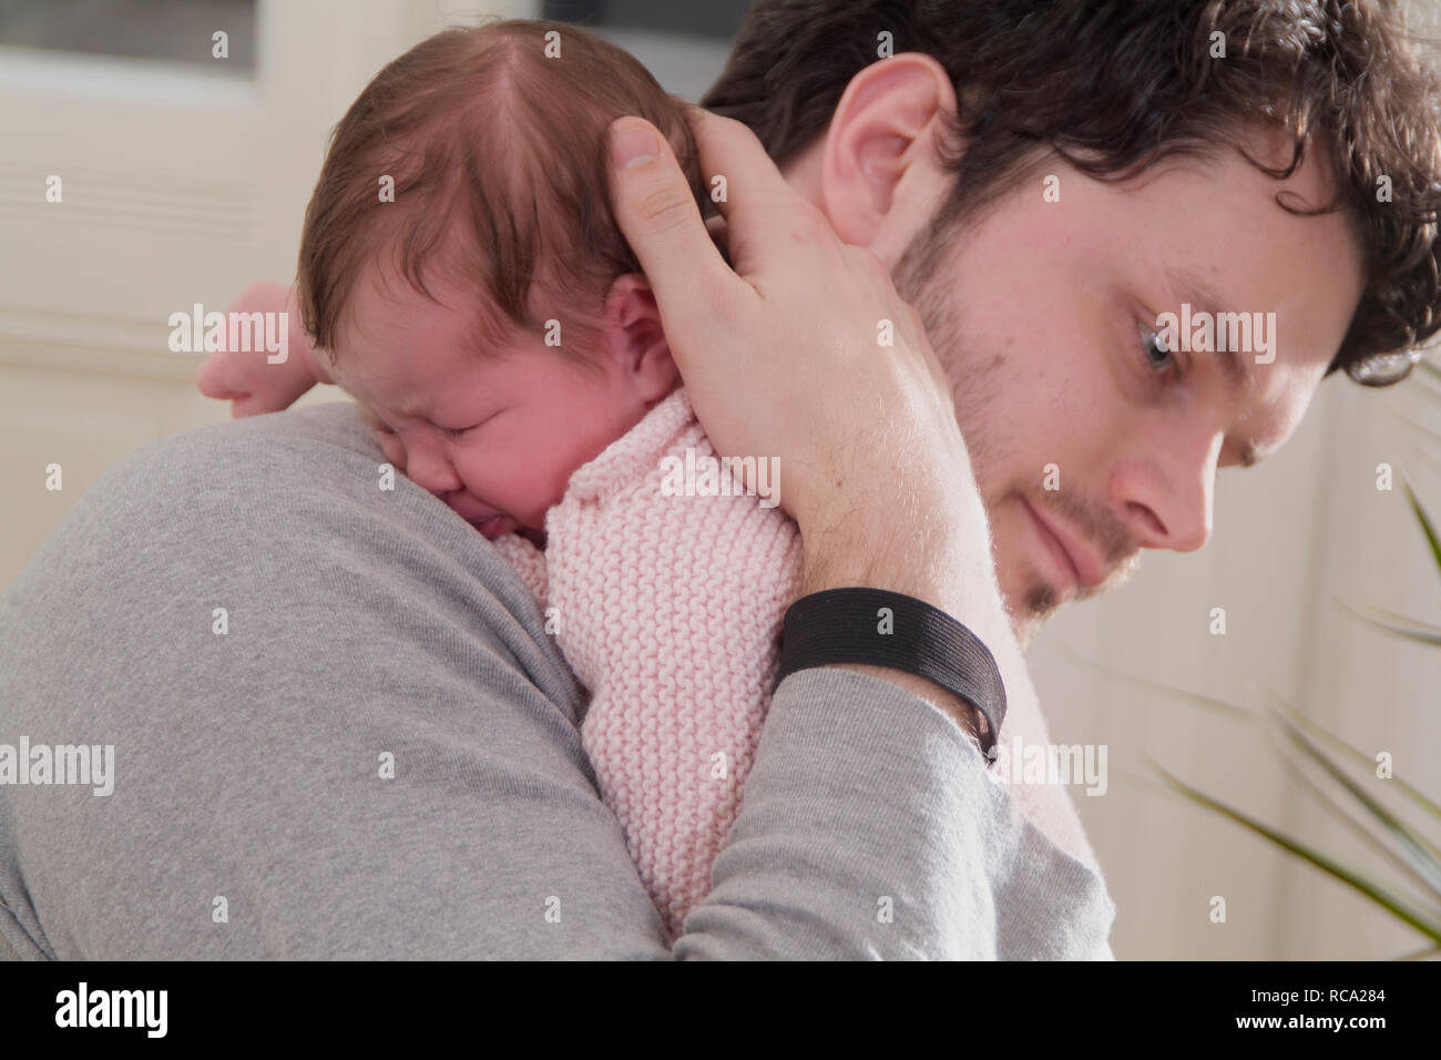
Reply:
[[[295, 300], [288, 287], [277, 283], [256, 283], [246, 287], [231, 303], [229, 313], [287, 313], [285, 361], [269, 363], [274, 356], [264, 343], [261, 349], [226, 350], [225, 337], [200, 365], [195, 382], [209, 398], [231, 402], [231, 415], [261, 415], [278, 412], [300, 398], [317, 382], [326, 382], [317, 369], [317, 356], [310, 336], [295, 312]], [[228, 329], [222, 329], [228, 330]], [[264, 330], [261, 332], [264, 335]]]

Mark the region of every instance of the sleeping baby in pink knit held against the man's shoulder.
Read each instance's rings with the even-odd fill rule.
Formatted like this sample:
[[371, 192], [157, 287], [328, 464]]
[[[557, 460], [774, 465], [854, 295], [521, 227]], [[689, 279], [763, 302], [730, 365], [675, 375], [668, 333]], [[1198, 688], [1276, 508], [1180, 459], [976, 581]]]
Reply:
[[[386, 460], [510, 561], [589, 692], [582, 744], [672, 939], [739, 811], [801, 577], [774, 500], [673, 489], [715, 453], [611, 213], [607, 127], [657, 125], [703, 203], [682, 107], [574, 26], [422, 42], [336, 127], [295, 291], [242, 299], [298, 313], [290, 362], [219, 352], [199, 375], [238, 415], [339, 384]], [[1039, 717], [1003, 736], [1022, 727], [1043, 740]], [[1094, 860], [1063, 792], [1014, 795]]]

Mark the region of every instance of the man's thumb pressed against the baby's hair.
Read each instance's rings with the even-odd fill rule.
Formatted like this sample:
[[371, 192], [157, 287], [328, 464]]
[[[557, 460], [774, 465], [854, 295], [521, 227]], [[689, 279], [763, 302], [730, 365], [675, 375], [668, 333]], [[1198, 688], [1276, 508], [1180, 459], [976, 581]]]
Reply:
[[611, 205], [640, 260], [661, 323], [672, 336], [699, 326], [706, 299], [697, 286], [720, 291], [739, 284], [710, 241], [700, 208], [666, 138], [641, 118], [611, 123]]

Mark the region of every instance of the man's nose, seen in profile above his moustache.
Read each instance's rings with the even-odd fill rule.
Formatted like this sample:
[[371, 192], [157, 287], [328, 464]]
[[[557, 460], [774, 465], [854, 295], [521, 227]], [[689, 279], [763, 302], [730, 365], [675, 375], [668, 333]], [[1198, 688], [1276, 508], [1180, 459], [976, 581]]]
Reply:
[[1141, 548], [1195, 552], [1210, 539], [1222, 437], [1172, 434], [1112, 479], [1112, 500]]

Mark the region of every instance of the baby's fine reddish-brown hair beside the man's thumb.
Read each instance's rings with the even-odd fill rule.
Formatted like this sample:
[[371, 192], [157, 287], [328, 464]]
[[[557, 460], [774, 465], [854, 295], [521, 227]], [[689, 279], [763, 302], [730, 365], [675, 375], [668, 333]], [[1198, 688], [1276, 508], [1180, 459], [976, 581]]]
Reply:
[[576, 332], [617, 277], [641, 271], [610, 205], [607, 128], [624, 114], [660, 128], [703, 203], [684, 107], [620, 48], [565, 23], [422, 40], [331, 133], [295, 281], [317, 348], [334, 361], [356, 281], [380, 265], [431, 299], [431, 270], [474, 284], [477, 350], [556, 319], [559, 352], [585, 363]]

